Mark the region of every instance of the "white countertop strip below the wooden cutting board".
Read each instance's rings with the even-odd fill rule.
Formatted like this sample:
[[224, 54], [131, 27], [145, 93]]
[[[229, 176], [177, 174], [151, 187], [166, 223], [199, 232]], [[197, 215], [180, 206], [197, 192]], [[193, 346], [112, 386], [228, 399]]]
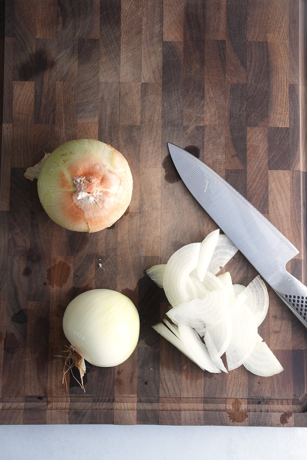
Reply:
[[3, 460], [306, 459], [307, 428], [0, 426]]

